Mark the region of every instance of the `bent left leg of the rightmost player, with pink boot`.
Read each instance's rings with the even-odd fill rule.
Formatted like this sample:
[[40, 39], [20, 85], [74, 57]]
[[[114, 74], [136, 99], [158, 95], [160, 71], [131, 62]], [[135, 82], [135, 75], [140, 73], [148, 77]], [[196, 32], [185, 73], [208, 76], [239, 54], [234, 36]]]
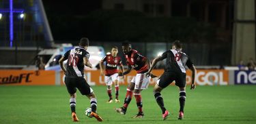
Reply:
[[160, 93], [162, 89], [167, 87], [173, 81], [173, 74], [172, 73], [163, 73], [161, 77], [156, 81], [156, 85], [154, 86], [154, 97], [158, 106], [162, 110], [162, 119], [165, 120], [169, 116], [169, 111], [165, 108], [164, 99], [162, 98], [162, 94]]

